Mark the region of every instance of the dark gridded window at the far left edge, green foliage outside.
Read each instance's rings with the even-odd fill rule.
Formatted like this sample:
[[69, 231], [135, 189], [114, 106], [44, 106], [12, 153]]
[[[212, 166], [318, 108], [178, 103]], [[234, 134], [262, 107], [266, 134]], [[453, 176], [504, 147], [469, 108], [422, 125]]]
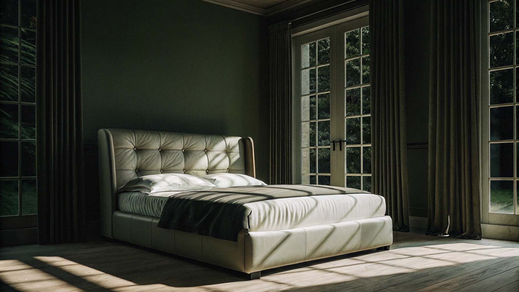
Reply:
[[0, 216], [36, 214], [36, 0], [0, 1]]

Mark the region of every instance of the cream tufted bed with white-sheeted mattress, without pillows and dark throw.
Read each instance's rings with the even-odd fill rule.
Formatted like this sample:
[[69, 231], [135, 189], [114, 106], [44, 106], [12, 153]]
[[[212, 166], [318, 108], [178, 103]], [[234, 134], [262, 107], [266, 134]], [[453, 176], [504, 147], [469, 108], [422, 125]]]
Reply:
[[258, 279], [266, 269], [372, 248], [389, 249], [392, 244], [392, 222], [384, 215], [384, 198], [365, 193], [246, 204], [252, 210], [249, 227], [234, 240], [159, 228], [170, 194], [117, 190], [151, 174], [255, 177], [252, 138], [101, 129], [98, 145], [104, 237], [238, 270], [251, 279]]

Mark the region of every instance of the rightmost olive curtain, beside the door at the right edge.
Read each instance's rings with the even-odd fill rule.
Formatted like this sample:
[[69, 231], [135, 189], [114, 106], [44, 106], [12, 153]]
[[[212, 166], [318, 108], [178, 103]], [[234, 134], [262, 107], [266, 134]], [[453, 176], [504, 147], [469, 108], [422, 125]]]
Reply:
[[433, 0], [428, 234], [481, 239], [481, 1]]

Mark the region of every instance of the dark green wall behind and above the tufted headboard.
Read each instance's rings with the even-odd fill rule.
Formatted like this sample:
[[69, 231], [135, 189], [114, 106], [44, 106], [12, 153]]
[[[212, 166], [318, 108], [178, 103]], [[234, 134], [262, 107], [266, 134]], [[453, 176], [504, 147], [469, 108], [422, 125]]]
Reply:
[[[264, 17], [201, 0], [88, 0], [82, 9], [85, 143], [100, 128], [250, 136], [257, 178], [268, 182]], [[86, 152], [92, 188], [96, 160]]]

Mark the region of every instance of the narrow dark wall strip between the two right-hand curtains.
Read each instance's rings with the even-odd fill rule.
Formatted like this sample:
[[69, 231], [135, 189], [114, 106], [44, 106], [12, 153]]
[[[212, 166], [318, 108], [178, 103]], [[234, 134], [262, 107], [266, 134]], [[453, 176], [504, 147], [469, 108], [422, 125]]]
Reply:
[[429, 0], [404, 2], [405, 101], [409, 216], [427, 217]]

